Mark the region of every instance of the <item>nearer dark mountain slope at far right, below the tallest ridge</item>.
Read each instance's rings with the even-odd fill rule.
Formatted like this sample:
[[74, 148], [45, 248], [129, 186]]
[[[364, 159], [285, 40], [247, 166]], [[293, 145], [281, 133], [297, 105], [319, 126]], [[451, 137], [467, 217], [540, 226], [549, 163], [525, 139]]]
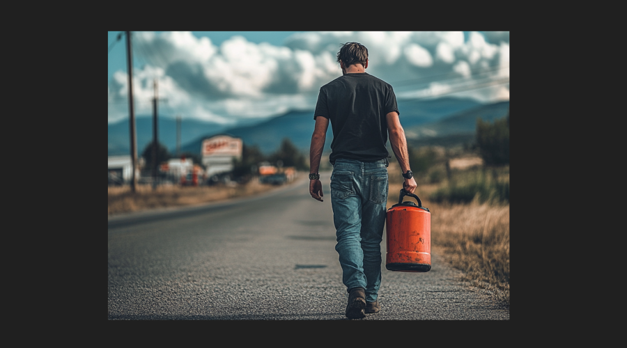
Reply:
[[[493, 122], [509, 112], [509, 101], [496, 102], [454, 113], [446, 118], [423, 125], [405, 127], [410, 143], [451, 143], [460, 139], [472, 139], [477, 129], [477, 118]], [[446, 139], [444, 139], [446, 138]]]

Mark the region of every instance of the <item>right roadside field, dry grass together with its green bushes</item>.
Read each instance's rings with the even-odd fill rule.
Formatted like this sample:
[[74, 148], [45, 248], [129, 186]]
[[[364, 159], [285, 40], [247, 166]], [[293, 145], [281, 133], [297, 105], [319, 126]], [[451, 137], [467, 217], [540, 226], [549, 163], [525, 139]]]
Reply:
[[[463, 280], [492, 290], [498, 301], [509, 305], [509, 167], [486, 174], [476, 158], [458, 161], [471, 165], [451, 165], [448, 177], [440, 163], [417, 176], [415, 193], [431, 212], [431, 251], [463, 271]], [[402, 177], [398, 164], [390, 164], [388, 170], [389, 208], [398, 203]], [[433, 174], [438, 171], [440, 175]], [[498, 192], [505, 184], [506, 198]], [[467, 196], [469, 187], [479, 191], [465, 203], [446, 199], [456, 198], [458, 191]]]

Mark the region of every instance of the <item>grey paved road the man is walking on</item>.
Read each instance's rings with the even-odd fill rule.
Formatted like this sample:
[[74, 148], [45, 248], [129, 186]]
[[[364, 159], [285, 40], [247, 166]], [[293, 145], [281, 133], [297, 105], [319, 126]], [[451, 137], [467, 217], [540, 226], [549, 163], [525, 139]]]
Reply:
[[[325, 201], [301, 178], [265, 196], [109, 219], [109, 319], [335, 319], [347, 294]], [[380, 313], [360, 320], [509, 319], [432, 255], [428, 273], [385, 269]]]

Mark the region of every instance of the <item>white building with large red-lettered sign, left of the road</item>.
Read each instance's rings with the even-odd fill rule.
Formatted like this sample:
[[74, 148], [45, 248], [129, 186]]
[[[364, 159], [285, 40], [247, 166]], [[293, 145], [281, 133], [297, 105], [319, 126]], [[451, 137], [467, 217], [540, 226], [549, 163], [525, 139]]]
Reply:
[[243, 142], [227, 134], [212, 136], [201, 143], [202, 164], [206, 168], [206, 176], [233, 170], [233, 159], [242, 159]]

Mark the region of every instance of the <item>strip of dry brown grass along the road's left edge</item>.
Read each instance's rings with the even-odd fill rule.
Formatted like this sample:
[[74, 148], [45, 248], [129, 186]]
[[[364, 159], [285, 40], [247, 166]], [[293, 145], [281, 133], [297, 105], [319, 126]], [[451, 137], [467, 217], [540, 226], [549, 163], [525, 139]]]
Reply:
[[[302, 176], [299, 175], [295, 180], [300, 180]], [[200, 205], [216, 200], [252, 196], [277, 188], [277, 186], [260, 184], [258, 180], [251, 180], [247, 184], [236, 187], [226, 185], [180, 187], [171, 185], [157, 187], [155, 191], [150, 185], [139, 185], [134, 194], [128, 186], [109, 187], [109, 215], [164, 207]]]

